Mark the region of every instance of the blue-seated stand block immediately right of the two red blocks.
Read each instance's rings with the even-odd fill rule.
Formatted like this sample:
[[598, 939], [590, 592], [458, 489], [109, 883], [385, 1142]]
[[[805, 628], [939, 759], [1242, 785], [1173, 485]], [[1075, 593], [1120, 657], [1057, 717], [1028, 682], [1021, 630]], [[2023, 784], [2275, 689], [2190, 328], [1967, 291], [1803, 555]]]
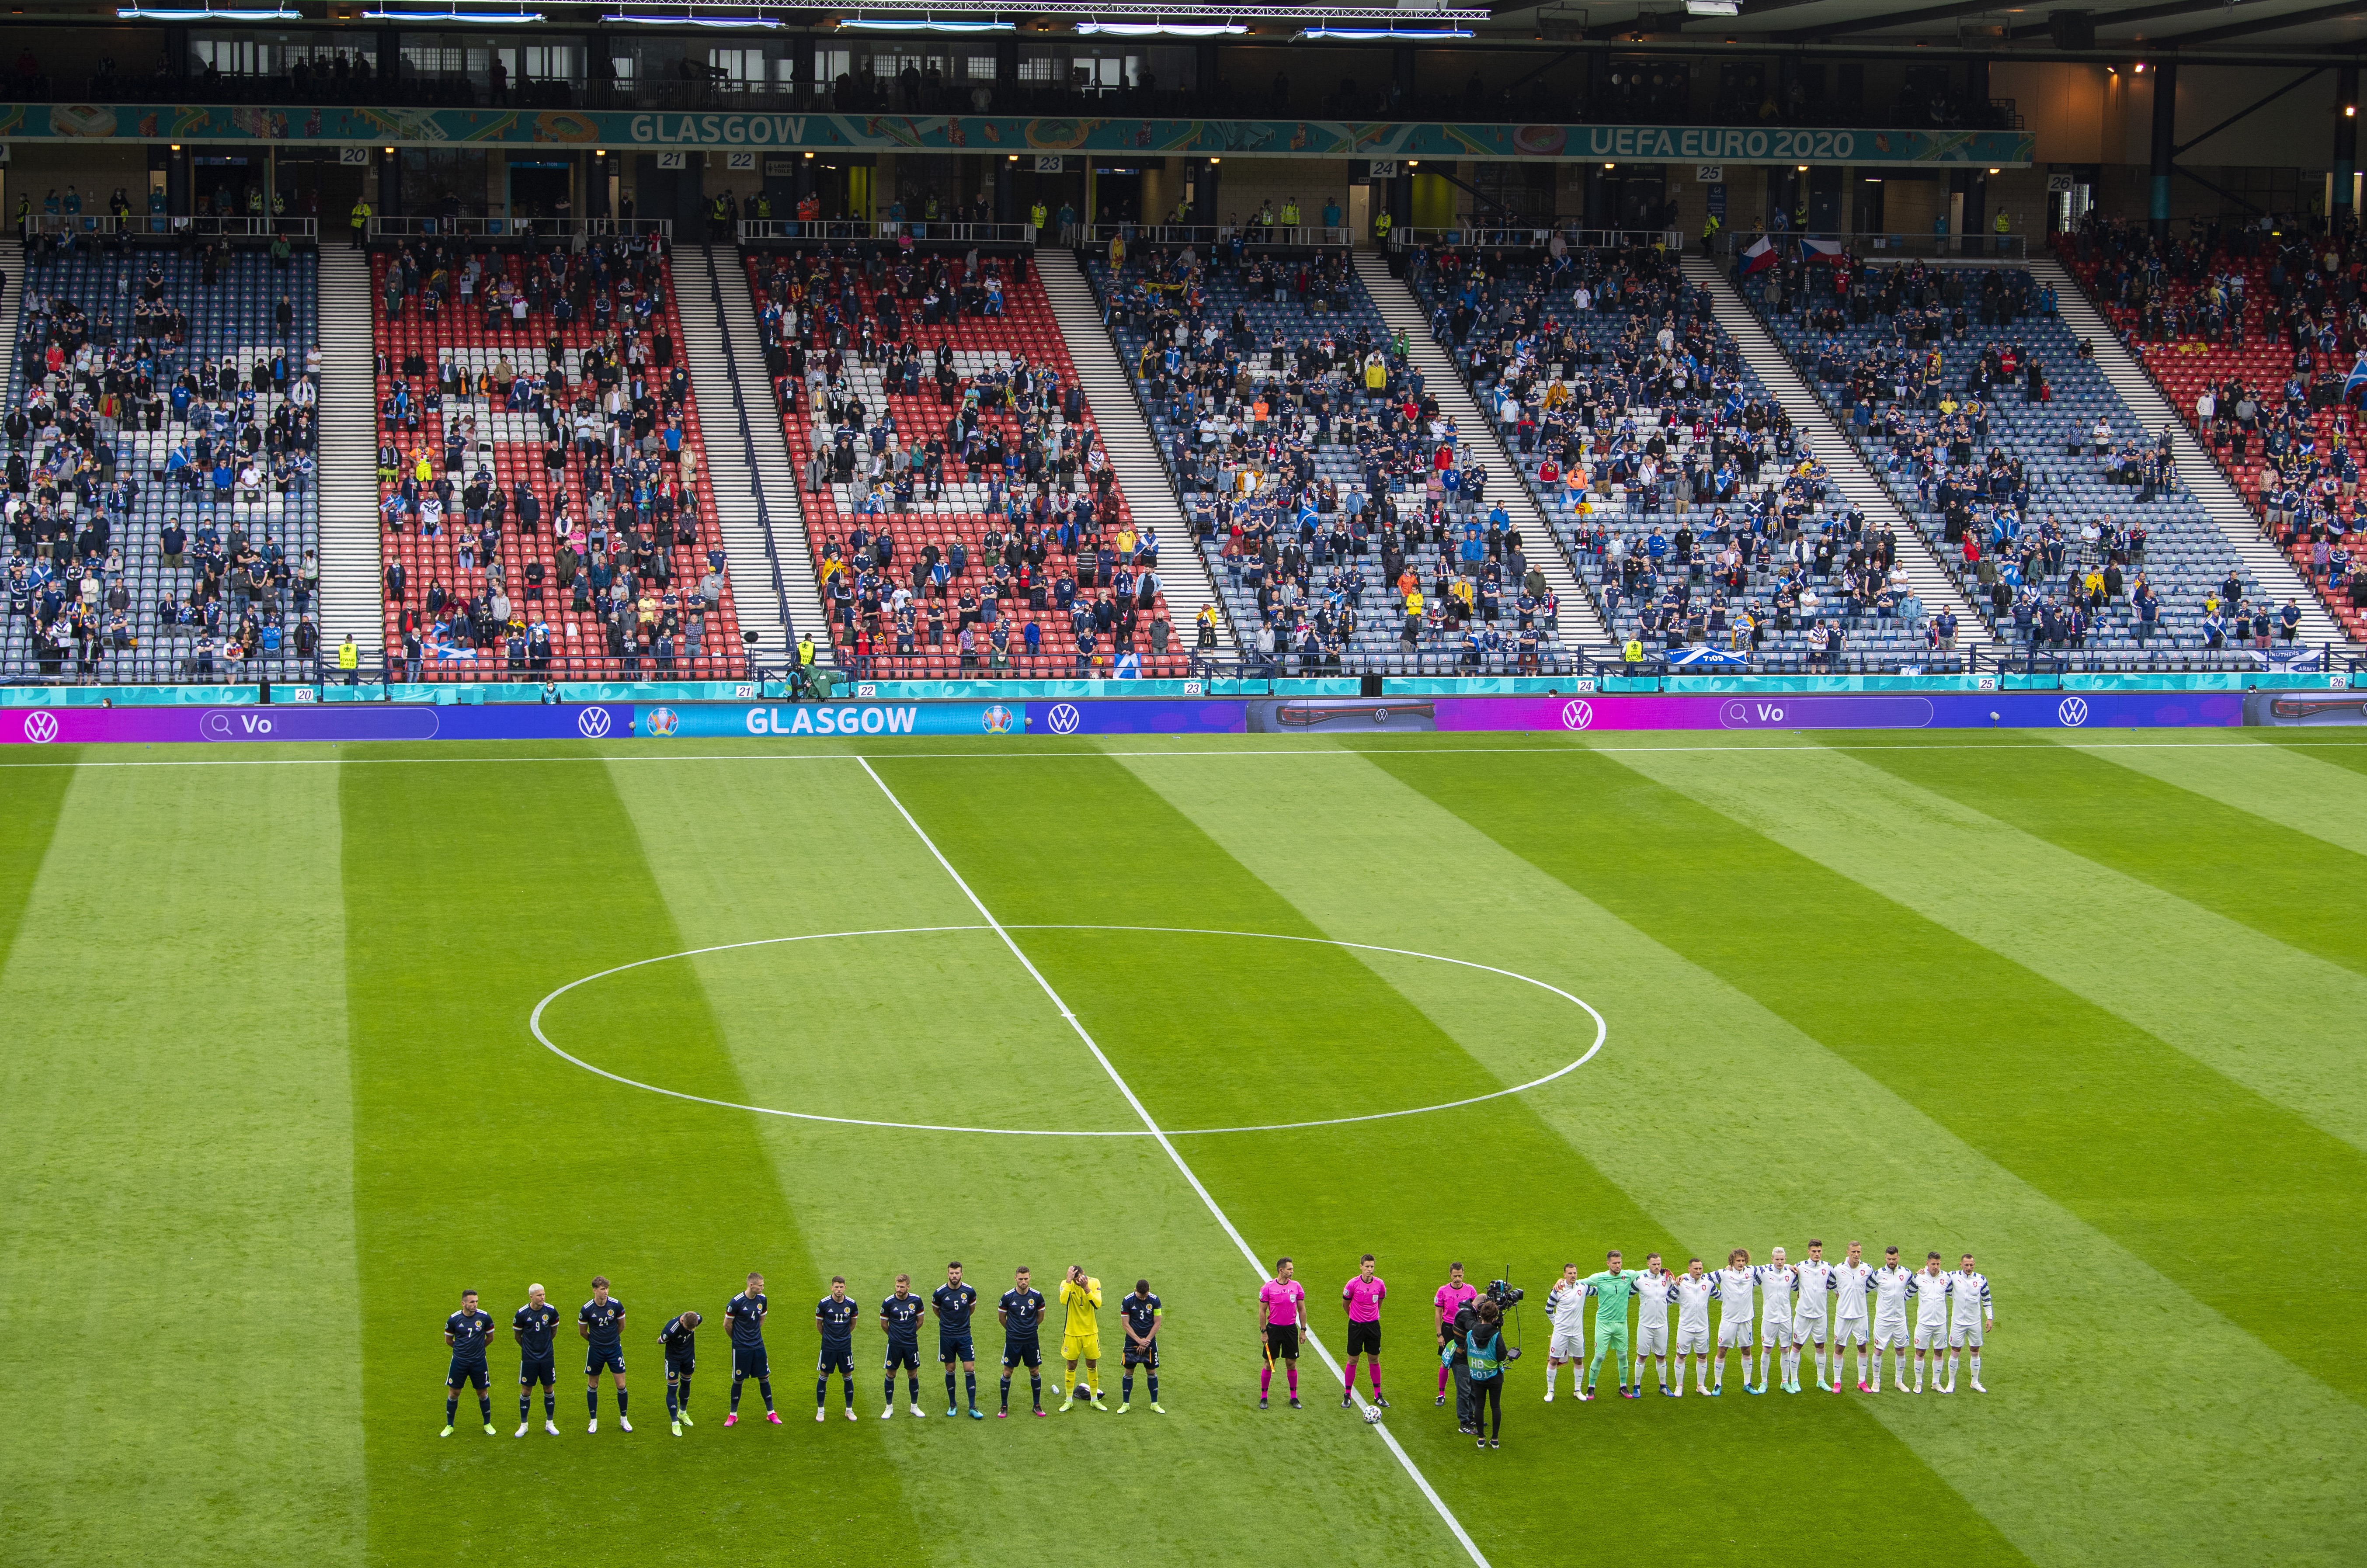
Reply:
[[1524, 553], [1553, 544], [1486, 499], [1344, 253], [1153, 251], [1089, 272], [1247, 665], [1574, 672]]

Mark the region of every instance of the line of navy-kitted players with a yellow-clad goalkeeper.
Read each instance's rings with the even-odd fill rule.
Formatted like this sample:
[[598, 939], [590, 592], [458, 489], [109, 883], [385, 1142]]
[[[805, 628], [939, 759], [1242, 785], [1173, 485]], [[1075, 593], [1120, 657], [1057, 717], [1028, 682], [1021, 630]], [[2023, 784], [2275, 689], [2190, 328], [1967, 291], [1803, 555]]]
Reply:
[[[1060, 1279], [1060, 1308], [1065, 1313], [1060, 1358], [1068, 1365], [1068, 1381], [1053, 1376], [1053, 1395], [1060, 1398], [1060, 1410], [1070, 1410], [1079, 1398], [1084, 1398], [1094, 1410], [1108, 1410], [1101, 1400], [1101, 1279], [1084, 1272], [1082, 1265], [1070, 1265], [1068, 1275]], [[1013, 1287], [1001, 1294], [994, 1303], [994, 1320], [1004, 1329], [1004, 1367], [1001, 1367], [1001, 1407], [994, 1412], [999, 1419], [1011, 1414], [1011, 1374], [1018, 1367], [1027, 1367], [1027, 1386], [1034, 1405], [1034, 1414], [1046, 1414], [1044, 1410], [1044, 1350], [1041, 1350], [1041, 1324], [1044, 1324], [1046, 1298], [1044, 1291], [1034, 1289], [1030, 1282], [1030, 1270], [1018, 1270], [1013, 1275]], [[765, 1400], [765, 1419], [774, 1426], [781, 1424], [779, 1410], [772, 1402], [772, 1358], [765, 1350], [765, 1317], [772, 1303], [765, 1296], [765, 1275], [748, 1275], [748, 1289], [731, 1296], [724, 1305], [724, 1331], [731, 1339], [731, 1410], [724, 1414], [724, 1426], [739, 1424], [739, 1407], [743, 1386], [755, 1379], [757, 1393]], [[978, 1353], [970, 1339], [970, 1317], [978, 1313], [978, 1287], [963, 1282], [961, 1263], [944, 1265], [944, 1284], [940, 1284], [923, 1301], [911, 1294], [911, 1275], [895, 1277], [895, 1291], [885, 1296], [878, 1305], [878, 1324], [888, 1334], [888, 1376], [885, 1376], [885, 1410], [881, 1419], [895, 1414], [895, 1374], [897, 1369], [907, 1376], [911, 1414], [928, 1414], [921, 1410], [921, 1320], [937, 1320], [937, 1362], [944, 1367], [944, 1414], [961, 1414], [961, 1405], [954, 1402], [954, 1365], [961, 1365], [961, 1384], [968, 1398], [968, 1412], [973, 1421], [982, 1421], [985, 1412], [978, 1410]], [[1120, 1386], [1117, 1414], [1127, 1414], [1134, 1402], [1134, 1374], [1143, 1372], [1148, 1381], [1150, 1410], [1167, 1414], [1160, 1405], [1160, 1322], [1165, 1317], [1165, 1305], [1155, 1294], [1150, 1294], [1148, 1279], [1136, 1279], [1134, 1291], [1117, 1303], [1120, 1324], [1124, 1327], [1124, 1374]], [[862, 1305], [847, 1296], [847, 1277], [831, 1277], [831, 1294], [814, 1303], [814, 1329], [821, 1334], [821, 1355], [814, 1365], [814, 1419], [828, 1417], [828, 1388], [831, 1372], [840, 1374], [845, 1386], [845, 1414], [850, 1421], [854, 1414], [854, 1320], [862, 1315]], [[665, 1320], [658, 1331], [658, 1346], [665, 1353], [665, 1417], [672, 1433], [679, 1438], [684, 1426], [691, 1421], [691, 1374], [698, 1369], [698, 1327], [705, 1322], [701, 1313], [679, 1313]], [[599, 1431], [599, 1381], [608, 1374], [615, 1384], [615, 1424], [623, 1431], [632, 1431], [630, 1393], [625, 1388], [625, 1303], [608, 1294], [608, 1277], [596, 1275], [592, 1279], [592, 1298], [582, 1303], [575, 1313], [575, 1331], [585, 1341], [585, 1405], [589, 1410], [587, 1433]], [[542, 1388], [542, 1431], [559, 1436], [559, 1350], [554, 1339], [559, 1334], [559, 1308], [554, 1308], [540, 1284], [525, 1287], [525, 1305], [516, 1310], [509, 1324], [509, 1336], [518, 1346], [518, 1431], [525, 1436], [533, 1428], [533, 1395]], [[492, 1426], [492, 1376], [485, 1367], [485, 1346], [492, 1339], [492, 1313], [478, 1305], [476, 1291], [462, 1291], [459, 1310], [445, 1317], [445, 1346], [452, 1353], [450, 1369], [445, 1372], [445, 1438], [452, 1436], [452, 1421], [459, 1414], [459, 1400], [464, 1388], [476, 1388], [478, 1417], [485, 1424], [485, 1436], [497, 1436]], [[1077, 1376], [1077, 1362], [1084, 1362], [1084, 1376]]]

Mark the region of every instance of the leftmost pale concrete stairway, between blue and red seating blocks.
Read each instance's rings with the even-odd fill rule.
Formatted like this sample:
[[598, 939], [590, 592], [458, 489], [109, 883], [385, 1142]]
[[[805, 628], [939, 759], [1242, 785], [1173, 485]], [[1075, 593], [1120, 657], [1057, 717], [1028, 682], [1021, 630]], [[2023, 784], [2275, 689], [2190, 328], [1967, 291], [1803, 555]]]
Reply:
[[[369, 253], [320, 248], [320, 650], [350, 634], [365, 669], [386, 641], [379, 553], [379, 378]], [[400, 653], [400, 650], [398, 650]]]

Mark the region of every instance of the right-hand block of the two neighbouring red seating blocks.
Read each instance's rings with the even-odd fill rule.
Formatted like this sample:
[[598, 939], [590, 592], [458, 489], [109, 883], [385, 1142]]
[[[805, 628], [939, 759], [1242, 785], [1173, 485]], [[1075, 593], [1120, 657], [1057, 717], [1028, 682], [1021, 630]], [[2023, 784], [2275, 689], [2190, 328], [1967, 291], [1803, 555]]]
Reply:
[[[930, 253], [755, 251], [746, 265], [843, 667], [892, 679], [1186, 674], [1193, 629], [1172, 624], [1157, 584], [1157, 551], [1181, 542], [1139, 537], [1115, 473], [1098, 482], [1091, 409], [1023, 258], [987, 258], [975, 277], [963, 277], [966, 258]], [[899, 350], [916, 355], [911, 376], [897, 374]], [[1056, 445], [1041, 482], [1023, 473], [1030, 433], [1039, 449]], [[1072, 504], [1096, 494], [1105, 499], [1077, 530]], [[1079, 627], [1091, 627], [1091, 650]]]

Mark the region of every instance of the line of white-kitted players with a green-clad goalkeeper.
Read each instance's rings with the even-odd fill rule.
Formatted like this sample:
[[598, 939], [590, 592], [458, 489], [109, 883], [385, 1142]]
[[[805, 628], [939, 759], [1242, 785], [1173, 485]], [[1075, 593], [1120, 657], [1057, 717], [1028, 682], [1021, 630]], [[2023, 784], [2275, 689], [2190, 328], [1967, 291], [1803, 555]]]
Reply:
[[[1659, 1253], [1645, 1258], [1643, 1270], [1621, 1268], [1621, 1253], [1605, 1258], [1605, 1270], [1586, 1279], [1579, 1265], [1562, 1268], [1562, 1279], [1546, 1294], [1546, 1315], [1553, 1320], [1553, 1343], [1546, 1353], [1546, 1400], [1553, 1400], [1553, 1384], [1560, 1367], [1569, 1367], [1572, 1384], [1579, 1381], [1579, 1362], [1586, 1362], [1586, 1381], [1576, 1398], [1595, 1398], [1595, 1379], [1605, 1355], [1612, 1360], [1612, 1376], [1619, 1379], [1619, 1398], [1643, 1398], [1645, 1362], [1652, 1362], [1664, 1395], [1685, 1395], [1685, 1358], [1695, 1358], [1695, 1391], [1718, 1395], [1726, 1388], [1726, 1353], [1742, 1353], [1742, 1391], [1766, 1393], [1771, 1374], [1785, 1393], [1799, 1393], [1801, 1350], [1813, 1348], [1815, 1386], [1842, 1393], [1842, 1348], [1858, 1353], [1858, 1393], [1882, 1391], [1882, 1353], [1891, 1350], [1898, 1393], [1924, 1391], [1924, 1358], [1931, 1358], [1931, 1388], [1955, 1393], [1958, 1355], [1969, 1355], [1974, 1393], [1981, 1386], [1981, 1341], [1995, 1329], [1998, 1313], [1988, 1289], [1988, 1275], [1972, 1265], [1965, 1253], [1958, 1265], [1941, 1272], [1936, 1251], [1924, 1253], [1924, 1265], [1908, 1270], [1898, 1263], [1898, 1249], [1886, 1246], [1882, 1268], [1863, 1258], [1858, 1242], [1849, 1244], [1842, 1263], [1825, 1258], [1823, 1242], [1808, 1242], [1808, 1256], [1792, 1263], [1778, 1246], [1768, 1263], [1752, 1263], [1747, 1246], [1726, 1256], [1726, 1268], [1704, 1270], [1700, 1258], [1688, 1258], [1685, 1272], [1673, 1275], [1662, 1268]], [[1460, 1287], [1460, 1289], [1458, 1289]], [[1759, 1384], [1752, 1386], [1752, 1296], [1759, 1296]], [[1453, 1296], [1453, 1298], [1451, 1298]], [[1437, 1296], [1442, 1343], [1446, 1324], [1468, 1310], [1472, 1294], [1460, 1284], [1460, 1270]], [[1628, 1301], [1638, 1305], [1638, 1331], [1633, 1348], [1633, 1381], [1628, 1381]], [[1830, 1298], [1830, 1303], [1827, 1303]], [[1586, 1360], [1584, 1313], [1595, 1303], [1595, 1355]], [[1709, 1336], [1709, 1303], [1718, 1303], [1716, 1353]], [[1669, 1343], [1669, 1305], [1676, 1305], [1676, 1355]], [[1908, 1308], [1915, 1310], [1915, 1327], [1908, 1329]], [[1832, 1343], [1832, 1379], [1825, 1376], [1825, 1346]], [[1872, 1367], [1868, 1367], [1868, 1341], [1872, 1341]], [[1908, 1388], [1908, 1348], [1915, 1350], [1915, 1386]], [[1948, 1350], [1948, 1379], [1941, 1381], [1939, 1353]], [[1676, 1362], [1676, 1384], [1669, 1381], [1669, 1360]], [[1444, 1395], [1444, 1376], [1439, 1393]]]

